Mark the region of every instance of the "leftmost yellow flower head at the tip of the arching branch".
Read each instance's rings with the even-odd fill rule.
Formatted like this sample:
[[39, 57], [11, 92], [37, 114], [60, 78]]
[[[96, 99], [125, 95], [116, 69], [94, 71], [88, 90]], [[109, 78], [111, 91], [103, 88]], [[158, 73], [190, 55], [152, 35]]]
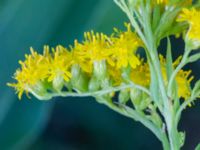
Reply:
[[25, 55], [26, 60], [19, 61], [21, 69], [17, 69], [14, 74], [14, 79], [17, 83], [9, 83], [16, 89], [19, 99], [24, 91], [28, 93], [29, 89], [35, 86], [38, 82], [44, 80], [47, 77], [47, 59], [31, 48], [31, 54]]

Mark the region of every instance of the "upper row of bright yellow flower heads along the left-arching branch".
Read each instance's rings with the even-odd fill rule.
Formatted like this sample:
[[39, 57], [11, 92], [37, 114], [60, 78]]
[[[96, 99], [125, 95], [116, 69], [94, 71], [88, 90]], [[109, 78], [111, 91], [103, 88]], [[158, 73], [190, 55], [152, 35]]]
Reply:
[[75, 64], [89, 77], [92, 76], [94, 63], [101, 61], [105, 61], [108, 68], [113, 70], [129, 65], [136, 68], [140, 65], [136, 50], [142, 42], [131, 30], [130, 24], [126, 24], [126, 27], [125, 32], [115, 29], [110, 37], [103, 33], [86, 32], [83, 42], [75, 40], [71, 50], [59, 45], [50, 51], [48, 46], [44, 46], [41, 55], [31, 48], [31, 54], [25, 55], [24, 62], [20, 61], [21, 69], [14, 75], [17, 83], [9, 86], [14, 87], [21, 98], [24, 91], [28, 93], [36, 85], [46, 86], [50, 83], [54, 90], [61, 90], [63, 83], [70, 81], [71, 68]]

